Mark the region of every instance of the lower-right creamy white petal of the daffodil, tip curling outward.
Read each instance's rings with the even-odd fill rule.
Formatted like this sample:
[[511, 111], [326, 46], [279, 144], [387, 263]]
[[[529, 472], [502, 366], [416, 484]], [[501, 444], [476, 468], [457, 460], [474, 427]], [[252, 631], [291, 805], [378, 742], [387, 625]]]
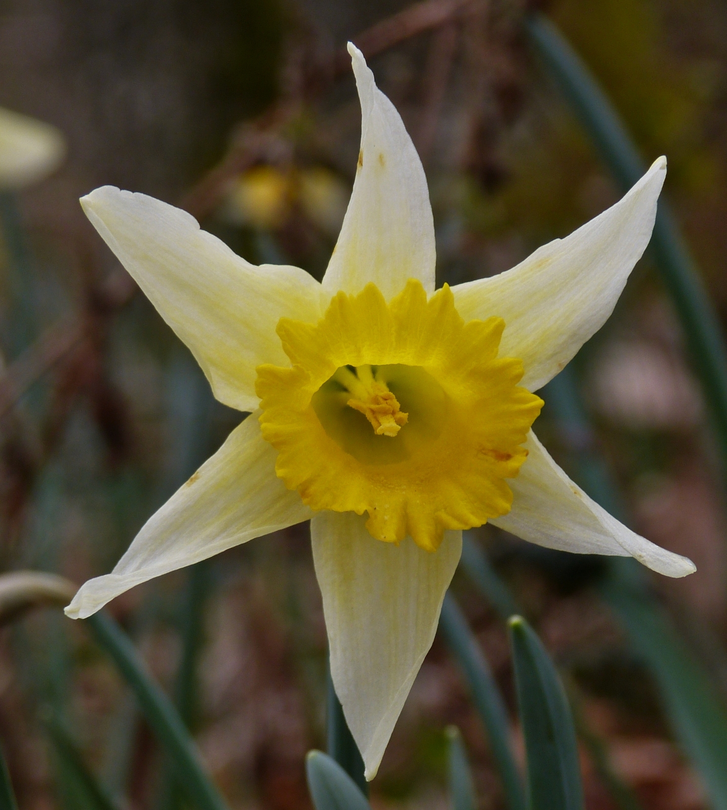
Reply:
[[667, 577], [686, 577], [696, 568], [687, 557], [666, 551], [612, 518], [573, 484], [530, 431], [528, 458], [508, 481], [512, 509], [491, 522], [530, 543], [580, 554], [633, 556]]

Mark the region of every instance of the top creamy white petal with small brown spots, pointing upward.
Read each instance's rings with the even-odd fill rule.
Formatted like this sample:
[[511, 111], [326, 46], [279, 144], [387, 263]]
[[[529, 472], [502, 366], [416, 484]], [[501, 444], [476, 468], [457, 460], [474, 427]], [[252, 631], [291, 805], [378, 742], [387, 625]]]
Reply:
[[361, 151], [323, 287], [359, 292], [372, 281], [388, 300], [406, 279], [419, 279], [434, 292], [434, 224], [422, 161], [364, 55], [351, 43], [348, 52], [361, 101]]

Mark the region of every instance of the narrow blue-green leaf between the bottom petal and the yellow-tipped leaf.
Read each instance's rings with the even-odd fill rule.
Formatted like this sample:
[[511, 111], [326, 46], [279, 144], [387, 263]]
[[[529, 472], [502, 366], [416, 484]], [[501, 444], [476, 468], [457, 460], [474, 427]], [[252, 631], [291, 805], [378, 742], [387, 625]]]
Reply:
[[508, 808], [525, 810], [525, 791], [512, 754], [508, 713], [500, 689], [495, 684], [487, 659], [474, 639], [465, 617], [449, 593], [444, 597], [442, 605], [440, 630], [466, 678], [474, 706], [487, 730], [492, 757], [503, 782]]

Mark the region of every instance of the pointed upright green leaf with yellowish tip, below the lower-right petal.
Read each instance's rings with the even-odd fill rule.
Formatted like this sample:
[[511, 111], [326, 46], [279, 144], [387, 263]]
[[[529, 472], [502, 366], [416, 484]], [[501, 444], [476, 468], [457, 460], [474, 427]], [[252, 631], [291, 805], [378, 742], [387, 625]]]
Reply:
[[512, 616], [509, 625], [530, 810], [582, 810], [576, 731], [563, 684], [525, 619]]

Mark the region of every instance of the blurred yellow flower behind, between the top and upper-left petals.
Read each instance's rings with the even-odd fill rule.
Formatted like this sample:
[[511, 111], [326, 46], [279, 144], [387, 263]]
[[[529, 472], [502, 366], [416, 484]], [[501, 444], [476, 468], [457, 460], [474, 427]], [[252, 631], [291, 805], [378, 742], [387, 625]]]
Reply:
[[346, 213], [346, 186], [322, 166], [255, 166], [232, 182], [222, 215], [236, 224], [270, 230], [285, 224], [296, 206], [335, 236]]

